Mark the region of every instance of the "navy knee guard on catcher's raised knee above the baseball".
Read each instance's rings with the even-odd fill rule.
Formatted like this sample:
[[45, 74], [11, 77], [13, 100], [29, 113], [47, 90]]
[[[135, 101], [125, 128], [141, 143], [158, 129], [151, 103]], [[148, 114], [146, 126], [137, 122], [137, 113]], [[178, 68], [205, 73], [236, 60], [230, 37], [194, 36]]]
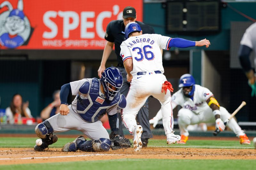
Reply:
[[44, 139], [46, 138], [47, 134], [50, 134], [53, 132], [53, 129], [51, 124], [46, 120], [36, 125], [35, 132], [39, 138]]

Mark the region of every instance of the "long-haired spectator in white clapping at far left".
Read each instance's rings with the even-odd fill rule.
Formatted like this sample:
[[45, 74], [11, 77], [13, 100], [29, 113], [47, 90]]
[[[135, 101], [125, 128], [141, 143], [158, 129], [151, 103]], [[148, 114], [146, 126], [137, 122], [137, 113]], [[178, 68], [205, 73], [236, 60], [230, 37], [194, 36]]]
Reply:
[[15, 94], [12, 97], [12, 102], [10, 107], [7, 107], [5, 114], [7, 117], [7, 123], [9, 124], [22, 124], [21, 117], [31, 118], [31, 112], [28, 108], [29, 102], [23, 103], [22, 96], [20, 94]]

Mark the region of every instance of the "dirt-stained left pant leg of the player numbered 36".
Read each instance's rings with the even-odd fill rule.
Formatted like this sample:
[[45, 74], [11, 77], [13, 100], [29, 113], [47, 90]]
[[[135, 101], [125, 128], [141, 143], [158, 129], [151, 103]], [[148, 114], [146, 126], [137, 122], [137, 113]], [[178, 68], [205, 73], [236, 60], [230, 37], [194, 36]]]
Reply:
[[137, 81], [132, 79], [129, 92], [126, 96], [126, 107], [124, 108], [122, 114], [124, 125], [131, 134], [133, 128], [137, 126], [135, 119], [136, 115], [148, 99], [148, 96], [149, 95], [147, 82], [145, 81], [145, 75], [143, 75], [140, 80]]

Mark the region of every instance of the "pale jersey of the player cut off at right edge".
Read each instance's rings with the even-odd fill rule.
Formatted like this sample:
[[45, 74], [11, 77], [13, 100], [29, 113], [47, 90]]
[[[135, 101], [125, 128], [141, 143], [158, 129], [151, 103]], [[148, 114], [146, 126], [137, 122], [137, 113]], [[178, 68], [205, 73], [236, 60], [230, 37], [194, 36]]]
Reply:
[[244, 32], [243, 38], [241, 39], [240, 44], [250, 47], [254, 50], [254, 65], [256, 66], [256, 23], [249, 26]]

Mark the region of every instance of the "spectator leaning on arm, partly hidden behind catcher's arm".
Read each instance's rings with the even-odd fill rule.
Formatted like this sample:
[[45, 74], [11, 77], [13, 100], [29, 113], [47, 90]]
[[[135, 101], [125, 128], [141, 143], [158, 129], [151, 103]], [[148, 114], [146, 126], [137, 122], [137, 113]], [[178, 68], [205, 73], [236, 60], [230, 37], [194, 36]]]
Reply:
[[41, 118], [44, 120], [60, 112], [60, 90], [55, 90], [52, 94], [53, 102], [41, 111]]

